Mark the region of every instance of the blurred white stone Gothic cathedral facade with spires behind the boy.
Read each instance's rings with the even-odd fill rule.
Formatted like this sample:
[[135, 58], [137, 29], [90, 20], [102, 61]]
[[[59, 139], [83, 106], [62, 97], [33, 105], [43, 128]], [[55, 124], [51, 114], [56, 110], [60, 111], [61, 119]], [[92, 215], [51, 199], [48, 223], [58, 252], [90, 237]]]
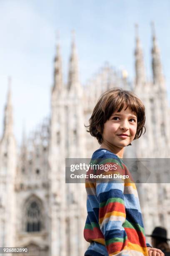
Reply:
[[[0, 141], [0, 247], [28, 247], [30, 256], [84, 255], [85, 184], [65, 183], [65, 158], [90, 158], [99, 147], [84, 124], [102, 92], [113, 87], [131, 90], [145, 105], [146, 133], [125, 148], [125, 158], [170, 158], [170, 108], [154, 29], [152, 40], [152, 80], [145, 74], [137, 32], [135, 81], [129, 82], [125, 71], [120, 74], [106, 64], [85, 86], [79, 79], [75, 39], [66, 84], [57, 44], [50, 117], [29, 138], [23, 134], [20, 148], [13, 133], [9, 87]], [[157, 182], [138, 188], [145, 233], [156, 225], [169, 233], [170, 189], [168, 183], [158, 182], [159, 169], [155, 177]]]

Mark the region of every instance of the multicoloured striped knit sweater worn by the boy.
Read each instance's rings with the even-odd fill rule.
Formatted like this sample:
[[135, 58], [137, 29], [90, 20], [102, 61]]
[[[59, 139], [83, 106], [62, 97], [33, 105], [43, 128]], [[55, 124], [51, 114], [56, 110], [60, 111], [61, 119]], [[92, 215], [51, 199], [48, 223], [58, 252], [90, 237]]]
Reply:
[[102, 148], [93, 153], [91, 163], [95, 161], [100, 165], [116, 164], [114, 173], [128, 174], [130, 179], [114, 183], [86, 179], [84, 238], [90, 246], [85, 256], [148, 256], [138, 192], [127, 166], [117, 155]]

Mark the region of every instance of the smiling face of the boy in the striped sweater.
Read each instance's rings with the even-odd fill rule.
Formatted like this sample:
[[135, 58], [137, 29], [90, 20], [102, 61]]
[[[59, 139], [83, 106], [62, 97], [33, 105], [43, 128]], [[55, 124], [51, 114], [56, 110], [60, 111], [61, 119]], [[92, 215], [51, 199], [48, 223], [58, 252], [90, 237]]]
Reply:
[[[117, 110], [110, 116], [109, 120], [104, 123], [102, 133], [103, 142], [110, 146], [123, 148], [128, 146], [135, 138], [137, 130], [137, 115], [130, 108], [124, 106], [120, 112]], [[126, 134], [120, 135], [120, 134]]]

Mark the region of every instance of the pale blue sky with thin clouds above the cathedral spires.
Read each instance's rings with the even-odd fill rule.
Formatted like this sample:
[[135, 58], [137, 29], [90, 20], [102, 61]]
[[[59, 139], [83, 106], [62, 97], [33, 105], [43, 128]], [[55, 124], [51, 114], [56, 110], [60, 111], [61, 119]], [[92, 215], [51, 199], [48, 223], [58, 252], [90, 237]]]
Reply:
[[1, 0], [0, 135], [11, 77], [14, 133], [21, 142], [50, 115], [50, 90], [57, 31], [64, 81], [67, 82], [71, 31], [75, 30], [80, 81], [86, 84], [105, 62], [126, 69], [134, 80], [135, 23], [148, 79], [151, 71], [151, 21], [160, 47], [170, 101], [170, 1], [164, 0]]

